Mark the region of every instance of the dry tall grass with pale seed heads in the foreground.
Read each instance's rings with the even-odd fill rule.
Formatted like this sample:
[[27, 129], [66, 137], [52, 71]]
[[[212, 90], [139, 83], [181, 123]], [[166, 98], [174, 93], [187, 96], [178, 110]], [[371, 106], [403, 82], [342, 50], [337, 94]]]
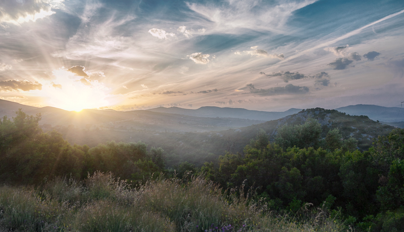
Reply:
[[[302, 214], [303, 213], [303, 214]], [[302, 216], [303, 215], [303, 216]], [[40, 190], [0, 187], [0, 231], [346, 231], [322, 209], [276, 215], [203, 177], [157, 179], [132, 188], [111, 173], [56, 178]]]

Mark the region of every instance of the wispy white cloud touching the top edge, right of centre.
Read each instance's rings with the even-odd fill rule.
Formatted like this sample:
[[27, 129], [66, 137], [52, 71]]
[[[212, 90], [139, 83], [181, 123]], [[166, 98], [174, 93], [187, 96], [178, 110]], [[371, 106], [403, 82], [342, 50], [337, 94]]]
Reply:
[[293, 12], [316, 0], [261, 1], [228, 0], [187, 3], [188, 7], [210, 22], [210, 30], [219, 33], [237, 34], [237, 29], [259, 32], [284, 32], [284, 25]]

